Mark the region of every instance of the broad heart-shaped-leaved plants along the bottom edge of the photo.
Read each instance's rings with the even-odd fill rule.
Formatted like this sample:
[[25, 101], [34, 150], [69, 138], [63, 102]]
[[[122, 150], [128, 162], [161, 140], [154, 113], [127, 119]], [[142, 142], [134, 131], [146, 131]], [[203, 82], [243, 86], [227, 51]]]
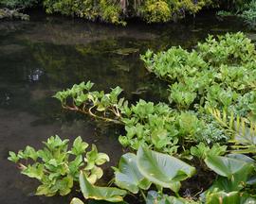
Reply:
[[[189, 197], [183, 198], [177, 194], [181, 186], [180, 180], [191, 178], [195, 173], [194, 167], [167, 154], [157, 153], [141, 146], [137, 155], [132, 153], [122, 155], [119, 167], [114, 168], [115, 184], [119, 188], [91, 185], [81, 173], [82, 194], [85, 199], [119, 202], [123, 201], [128, 191], [132, 194], [140, 193], [147, 204], [155, 202], [170, 204], [255, 202], [253, 188], [256, 162], [242, 154], [229, 154], [225, 157], [217, 155], [216, 151], [211, 152], [204, 159], [206, 166], [215, 172], [217, 177], [210, 188], [197, 200]], [[157, 192], [150, 190], [152, 184], [155, 184]], [[172, 189], [175, 196], [164, 193], [166, 192], [164, 188]], [[72, 203], [83, 202], [78, 198], [73, 198]]]

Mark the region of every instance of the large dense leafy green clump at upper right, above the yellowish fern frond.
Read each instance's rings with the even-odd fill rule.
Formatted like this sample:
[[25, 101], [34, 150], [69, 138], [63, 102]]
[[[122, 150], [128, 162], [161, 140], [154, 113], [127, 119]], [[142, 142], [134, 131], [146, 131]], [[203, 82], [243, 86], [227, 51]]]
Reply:
[[191, 52], [172, 47], [141, 56], [147, 69], [170, 82], [170, 103], [179, 110], [200, 107], [255, 114], [255, 46], [243, 33], [210, 36]]

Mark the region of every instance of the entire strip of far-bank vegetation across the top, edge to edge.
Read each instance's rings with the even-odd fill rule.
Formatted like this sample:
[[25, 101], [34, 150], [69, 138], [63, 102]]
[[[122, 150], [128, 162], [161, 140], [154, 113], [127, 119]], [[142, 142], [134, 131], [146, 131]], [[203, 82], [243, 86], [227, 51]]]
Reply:
[[[251, 4], [254, 5], [255, 1], [246, 5], [252, 9]], [[219, 0], [0, 0], [0, 19], [29, 20], [26, 13], [32, 8], [43, 9], [47, 14], [59, 13], [92, 22], [125, 26], [131, 18], [141, 19], [147, 24], [176, 22], [207, 9], [217, 9], [221, 15], [239, 13], [248, 6], [237, 4], [236, 1], [223, 4]]]

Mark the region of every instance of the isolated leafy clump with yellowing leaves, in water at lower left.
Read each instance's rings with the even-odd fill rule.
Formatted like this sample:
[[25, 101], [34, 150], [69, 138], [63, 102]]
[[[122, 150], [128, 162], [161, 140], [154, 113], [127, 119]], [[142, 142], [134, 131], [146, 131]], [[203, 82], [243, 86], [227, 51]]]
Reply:
[[82, 142], [81, 137], [74, 141], [70, 150], [68, 140], [63, 141], [57, 135], [48, 138], [44, 144], [45, 147], [38, 151], [27, 146], [17, 154], [9, 152], [9, 161], [18, 163], [22, 174], [42, 183], [36, 195], [69, 194], [73, 183], [79, 179], [80, 171], [95, 183], [103, 175], [99, 166], [109, 161], [106, 154], [98, 153], [94, 144], [91, 151], [86, 151], [88, 144]]

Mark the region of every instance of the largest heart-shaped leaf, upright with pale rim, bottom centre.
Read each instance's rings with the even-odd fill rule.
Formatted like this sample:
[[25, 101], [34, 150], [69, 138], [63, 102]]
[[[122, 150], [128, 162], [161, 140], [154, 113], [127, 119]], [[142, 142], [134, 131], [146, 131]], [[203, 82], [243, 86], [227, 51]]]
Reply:
[[137, 151], [140, 173], [153, 183], [178, 192], [181, 180], [192, 177], [195, 168], [170, 155], [140, 146]]

